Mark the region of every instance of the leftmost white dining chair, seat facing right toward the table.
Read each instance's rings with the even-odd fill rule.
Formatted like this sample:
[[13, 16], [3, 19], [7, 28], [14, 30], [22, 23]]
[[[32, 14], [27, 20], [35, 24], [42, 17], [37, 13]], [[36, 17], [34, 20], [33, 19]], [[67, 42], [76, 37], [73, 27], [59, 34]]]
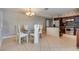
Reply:
[[17, 35], [17, 41], [19, 41], [19, 44], [21, 44], [22, 38], [26, 38], [27, 43], [28, 43], [28, 33], [21, 32], [21, 26], [20, 25], [16, 26], [16, 35]]

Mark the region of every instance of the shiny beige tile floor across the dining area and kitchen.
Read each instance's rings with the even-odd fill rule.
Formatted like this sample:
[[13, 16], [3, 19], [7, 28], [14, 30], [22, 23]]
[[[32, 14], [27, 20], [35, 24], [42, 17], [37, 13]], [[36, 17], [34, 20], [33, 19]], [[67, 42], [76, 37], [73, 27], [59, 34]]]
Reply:
[[61, 38], [43, 35], [38, 44], [26, 42], [18, 44], [16, 38], [5, 39], [1, 51], [78, 51], [76, 48], [76, 37], [63, 35]]

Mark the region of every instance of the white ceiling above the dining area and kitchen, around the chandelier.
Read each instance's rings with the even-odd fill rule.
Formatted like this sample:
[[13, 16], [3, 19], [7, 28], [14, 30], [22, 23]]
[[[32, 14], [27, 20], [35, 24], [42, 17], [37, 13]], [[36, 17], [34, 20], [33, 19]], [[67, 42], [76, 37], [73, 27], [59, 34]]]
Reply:
[[[18, 13], [25, 12], [24, 11], [25, 9], [23, 8], [3, 8], [2, 10]], [[32, 11], [35, 12], [36, 15], [38, 16], [55, 17], [55, 16], [62, 16], [69, 12], [75, 12], [75, 8], [32, 8]]]

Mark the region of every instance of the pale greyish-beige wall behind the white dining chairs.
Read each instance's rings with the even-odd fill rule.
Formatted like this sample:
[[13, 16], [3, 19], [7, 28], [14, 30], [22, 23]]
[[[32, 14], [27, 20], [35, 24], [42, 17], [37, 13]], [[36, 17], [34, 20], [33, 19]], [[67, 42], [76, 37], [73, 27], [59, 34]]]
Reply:
[[34, 24], [43, 24], [43, 20], [39, 16], [27, 17], [21, 13], [3, 11], [3, 30], [2, 36], [9, 36], [15, 34], [15, 25], [16, 24], [29, 24], [30, 29], [33, 29]]

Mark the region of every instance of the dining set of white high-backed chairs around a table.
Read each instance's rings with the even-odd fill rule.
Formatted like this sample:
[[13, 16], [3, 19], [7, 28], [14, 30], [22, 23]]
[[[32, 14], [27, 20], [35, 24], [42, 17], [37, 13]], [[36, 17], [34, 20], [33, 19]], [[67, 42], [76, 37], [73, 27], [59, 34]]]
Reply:
[[[31, 26], [32, 28], [32, 26]], [[15, 26], [16, 31], [16, 42], [18, 44], [22, 43], [40, 43], [40, 38], [42, 38], [43, 26], [40, 24], [34, 24], [33, 28], [30, 29], [29, 25], [19, 25]]]

